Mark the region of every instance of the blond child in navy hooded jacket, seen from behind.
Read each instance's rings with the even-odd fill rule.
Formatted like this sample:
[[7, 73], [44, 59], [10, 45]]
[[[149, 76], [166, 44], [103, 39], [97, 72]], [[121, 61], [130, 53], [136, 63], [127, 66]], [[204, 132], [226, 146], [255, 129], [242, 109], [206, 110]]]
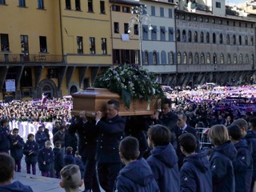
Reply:
[[210, 142], [214, 148], [210, 154], [210, 169], [213, 192], [235, 192], [233, 161], [238, 152], [230, 142], [228, 130], [224, 125], [210, 127]]

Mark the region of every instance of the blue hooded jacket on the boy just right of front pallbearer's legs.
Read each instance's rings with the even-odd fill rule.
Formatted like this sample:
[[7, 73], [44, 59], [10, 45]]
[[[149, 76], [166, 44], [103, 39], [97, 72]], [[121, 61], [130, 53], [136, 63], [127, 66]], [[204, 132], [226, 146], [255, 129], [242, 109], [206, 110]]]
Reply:
[[130, 162], [122, 168], [115, 182], [118, 192], [159, 192], [158, 184], [144, 158]]

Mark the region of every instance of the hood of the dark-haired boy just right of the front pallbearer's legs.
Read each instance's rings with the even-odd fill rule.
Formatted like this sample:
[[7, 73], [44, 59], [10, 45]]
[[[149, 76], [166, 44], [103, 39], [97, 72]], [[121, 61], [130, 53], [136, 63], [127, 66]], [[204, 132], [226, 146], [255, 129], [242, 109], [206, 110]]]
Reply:
[[154, 179], [150, 166], [144, 158], [130, 162], [120, 170], [120, 174], [138, 183], [140, 186], [147, 186], [152, 182], [152, 179]]

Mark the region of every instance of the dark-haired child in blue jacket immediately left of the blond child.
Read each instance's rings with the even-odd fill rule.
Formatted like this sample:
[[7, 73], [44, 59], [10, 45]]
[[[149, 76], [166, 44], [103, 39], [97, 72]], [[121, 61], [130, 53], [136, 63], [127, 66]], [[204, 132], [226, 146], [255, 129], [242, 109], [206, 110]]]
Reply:
[[182, 154], [186, 156], [180, 170], [180, 191], [212, 191], [210, 162], [206, 153], [195, 153], [197, 138], [194, 134], [186, 133], [178, 137], [178, 142]]

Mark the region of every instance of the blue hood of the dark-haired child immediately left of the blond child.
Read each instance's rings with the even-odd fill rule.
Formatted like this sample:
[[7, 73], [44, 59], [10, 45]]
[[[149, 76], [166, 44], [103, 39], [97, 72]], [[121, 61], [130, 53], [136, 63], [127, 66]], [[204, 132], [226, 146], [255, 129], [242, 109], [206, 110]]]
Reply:
[[199, 154], [191, 154], [184, 159], [185, 162], [192, 162], [202, 173], [206, 173], [210, 169], [210, 162], [207, 158], [206, 152]]

